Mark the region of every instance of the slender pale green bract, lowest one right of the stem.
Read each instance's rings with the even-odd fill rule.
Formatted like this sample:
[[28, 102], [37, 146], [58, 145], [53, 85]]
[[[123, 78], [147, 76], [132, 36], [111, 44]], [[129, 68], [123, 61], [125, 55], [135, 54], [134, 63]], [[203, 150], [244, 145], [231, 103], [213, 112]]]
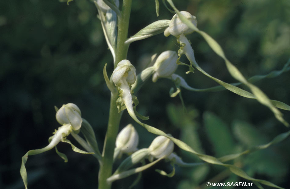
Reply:
[[144, 166], [137, 167], [137, 168], [134, 168], [134, 169], [130, 169], [128, 171], [124, 171], [124, 172], [121, 172], [119, 174], [114, 174], [111, 177], [107, 178], [107, 182], [108, 183], [112, 183], [115, 180], [119, 180], [119, 179], [122, 179], [122, 178], [129, 177], [129, 176], [131, 176], [131, 175], [133, 175], [135, 173], [140, 173], [140, 172], [150, 168], [151, 166], [153, 166], [154, 164], [159, 162], [161, 159], [164, 159], [164, 157], [161, 157], [161, 158], [155, 160], [154, 162], [148, 163], [148, 164], [146, 164]]

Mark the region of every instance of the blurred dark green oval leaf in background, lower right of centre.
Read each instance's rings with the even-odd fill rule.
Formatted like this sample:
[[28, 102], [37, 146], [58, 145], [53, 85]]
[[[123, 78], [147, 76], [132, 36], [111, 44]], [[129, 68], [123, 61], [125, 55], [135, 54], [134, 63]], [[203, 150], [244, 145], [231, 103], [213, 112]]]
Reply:
[[227, 124], [211, 112], [203, 114], [204, 125], [216, 156], [222, 156], [233, 152], [234, 139]]

